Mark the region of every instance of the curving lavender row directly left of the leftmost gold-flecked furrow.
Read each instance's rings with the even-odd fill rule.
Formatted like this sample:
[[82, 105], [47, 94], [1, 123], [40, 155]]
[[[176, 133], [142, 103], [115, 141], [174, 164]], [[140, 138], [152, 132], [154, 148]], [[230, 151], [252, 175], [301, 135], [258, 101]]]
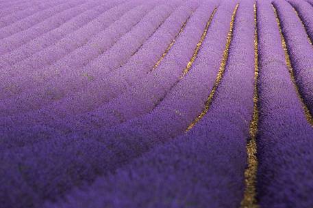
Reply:
[[[195, 2], [190, 2], [190, 3], [186, 3], [185, 5], [181, 5], [180, 8], [178, 8], [175, 12], [173, 12], [173, 14], [166, 20], [166, 22], [164, 23], [164, 25], [162, 27], [160, 27], [160, 31], [156, 32], [155, 35], [153, 35], [151, 37], [151, 39], [148, 40], [147, 44], [145, 44], [142, 47], [142, 50], [139, 51], [138, 55], [136, 54], [134, 57], [132, 57], [132, 59], [129, 61], [128, 64], [126, 64], [123, 68], [120, 68], [118, 70], [116, 70], [115, 72], [119, 72], [119, 73], [114, 73], [114, 74], [109, 74], [108, 79], [105, 81], [105, 83], [99, 83], [97, 85], [95, 85], [94, 87], [90, 87], [86, 90], [80, 91], [79, 93], [75, 93], [75, 95], [71, 95], [71, 96], [67, 96], [68, 98], [62, 102], [58, 103], [58, 106], [60, 106], [59, 108], [64, 108], [66, 106], [67, 109], [69, 110], [69, 107], [71, 106], [77, 106], [75, 108], [73, 108], [73, 110], [78, 110], [79, 108], [82, 108], [84, 106], [89, 106], [90, 104], [92, 104], [93, 106], [95, 106], [95, 104], [97, 104], [97, 100], [100, 100], [100, 98], [112, 98], [113, 95], [118, 95], [118, 90], [121, 91], [123, 90], [123, 87], [118, 87], [114, 86], [116, 85], [116, 83], [118, 83], [118, 80], [116, 80], [116, 78], [118, 77], [123, 77], [123, 78], [127, 78], [128, 79], [133, 80], [133, 82], [136, 83], [136, 81], [138, 82], [138, 80], [140, 80], [140, 78], [146, 76], [146, 72], [149, 72], [149, 70], [151, 70], [151, 68], [153, 67], [153, 65], [155, 64], [155, 61], [158, 61], [159, 57], [162, 55], [164, 48], [167, 46], [166, 42], [171, 42], [171, 40], [173, 40], [173, 38], [175, 37], [175, 32], [177, 33], [179, 31], [179, 28], [182, 24], [184, 24], [184, 21], [186, 21], [186, 18], [189, 18], [190, 14], [192, 13], [192, 10], [195, 10], [195, 8], [197, 8], [197, 4], [195, 4]], [[188, 12], [188, 13], [186, 13]], [[175, 27], [173, 27], [173, 25], [175, 25]], [[155, 46], [155, 42], [160, 42], [160, 40], [164, 40], [166, 42], [164, 42], [163, 44], [160, 44], [158, 46]], [[153, 48], [154, 50], [152, 51], [151, 48]], [[153, 53], [151, 53], [153, 52]], [[145, 59], [152, 57], [152, 55], [154, 56], [154, 61], [153, 59], [151, 59], [151, 61], [147, 62], [145, 61]], [[112, 76], [110, 76], [112, 75]], [[136, 78], [136, 79], [135, 79]], [[120, 80], [121, 83], [121, 80]], [[123, 86], [123, 85], [120, 85]], [[97, 96], [97, 93], [95, 94], [94, 91], [92, 91], [92, 89], [97, 89], [99, 90], [99, 92], [102, 92], [103, 95], [101, 97]], [[88, 92], [88, 93], [87, 93]], [[95, 94], [94, 98], [90, 98], [90, 95]], [[88, 96], [86, 96], [88, 95]], [[75, 99], [73, 99], [75, 98]], [[89, 98], [89, 99], [88, 99]], [[73, 100], [75, 102], [73, 102]], [[103, 102], [103, 101], [102, 101]], [[76, 104], [77, 103], [77, 104]], [[70, 104], [70, 105], [68, 105]], [[84, 104], [83, 106], [79, 107], [79, 105]], [[53, 105], [55, 106], [55, 105]], [[51, 110], [55, 109], [55, 107], [49, 107]], [[45, 108], [47, 111], [47, 114], [51, 114], [55, 115], [55, 113], [53, 113], [53, 111], [49, 110], [49, 108]], [[84, 107], [86, 108], [86, 107]], [[88, 108], [86, 108], [88, 109]], [[40, 110], [41, 111], [41, 110]], [[99, 112], [100, 110], [97, 110], [97, 112]], [[66, 111], [64, 111], [66, 112]], [[45, 114], [45, 117], [47, 117], [47, 114]], [[77, 115], [77, 117], [72, 117], [71, 119], [66, 119], [66, 125], [64, 124], [58, 124], [58, 126], [61, 127], [66, 127], [69, 125], [69, 123], [71, 123], [71, 125], [73, 125], [72, 128], [75, 128], [78, 130], [78, 128], [82, 128], [82, 126], [78, 126], [78, 124], [86, 124], [86, 125], [92, 125], [92, 119], [94, 119], [93, 116], [94, 113], [84, 113], [83, 115]], [[68, 115], [70, 116], [70, 115]], [[42, 117], [42, 115], [38, 115], [38, 113], [36, 114], [35, 117]], [[13, 118], [12, 118], [13, 119]], [[14, 120], [16, 120], [17, 117], [14, 118]], [[55, 123], [59, 123], [60, 121], [55, 120], [55, 116], [51, 117], [51, 119], [53, 119], [55, 121]], [[25, 119], [23, 119], [25, 121]], [[36, 119], [38, 120], [38, 119]], [[60, 120], [60, 119], [59, 119]], [[71, 122], [70, 122], [71, 121]], [[73, 121], [73, 123], [72, 123]], [[79, 123], [78, 123], [79, 121]], [[5, 121], [3, 121], [5, 122]], [[82, 123], [81, 123], [82, 122]], [[41, 123], [41, 122], [40, 122]], [[101, 123], [105, 123], [102, 122]], [[47, 125], [49, 125], [49, 123], [47, 123]]]

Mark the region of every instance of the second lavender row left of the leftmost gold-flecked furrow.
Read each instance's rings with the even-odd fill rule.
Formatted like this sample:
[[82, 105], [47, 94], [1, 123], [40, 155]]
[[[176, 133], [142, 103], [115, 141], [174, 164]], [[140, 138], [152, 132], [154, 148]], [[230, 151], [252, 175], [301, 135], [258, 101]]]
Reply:
[[[90, 80], [88, 79], [88, 77], [86, 78], [86, 76], [84, 76], [84, 73], [86, 73], [86, 71], [88, 72], [88, 70], [95, 70], [96, 65], [99, 67], [99, 70], [103, 71], [110, 70], [110, 68], [113, 69], [118, 67], [121, 62], [129, 59], [129, 57], [131, 57], [132, 54], [136, 52], [137, 48], [140, 47], [142, 42], [145, 42], [145, 40], [149, 38], [149, 35], [151, 35], [158, 28], [158, 26], [162, 24], [162, 22], [171, 14], [174, 7], [177, 7], [177, 2], [172, 1], [171, 3], [168, 3], [168, 5], [158, 5], [155, 9], [149, 12], [149, 14], [147, 14], [138, 24], [136, 24], [136, 26], [131, 31], [129, 31], [129, 33], [123, 35], [115, 44], [109, 43], [107, 46], [108, 51], [105, 51], [102, 54], [100, 53], [100, 56], [97, 57], [95, 60], [92, 60], [88, 65], [86, 65], [86, 67], [82, 69], [77, 68], [75, 72], [73, 72], [72, 68], [60, 67], [60, 74], [63, 75], [61, 77], [58, 76], [58, 74], [56, 74], [55, 72], [51, 73], [50, 70], [41, 70], [40, 74], [44, 76], [44, 79], [40, 80], [41, 82], [36, 84], [42, 84], [43, 88], [38, 87], [38, 89], [36, 89], [35, 91], [32, 91], [30, 93], [23, 93], [22, 95], [18, 96], [18, 98], [16, 98], [16, 96], [14, 99], [10, 99], [9, 101], [5, 100], [4, 106], [8, 106], [8, 102], [12, 102], [13, 106], [10, 106], [10, 110], [13, 111], [17, 108], [20, 108], [18, 102], [23, 102], [23, 107], [26, 108], [25, 110], [28, 110], [27, 108], [34, 109], [34, 106], [36, 109], [38, 108], [38, 106], [41, 106], [47, 102], [51, 102], [51, 94], [49, 95], [47, 91], [52, 91], [52, 99], [58, 100], [64, 96], [64, 93], [66, 93], [65, 90], [68, 89], [69, 85], [74, 85], [73, 87], [82, 87], [82, 85], [88, 84]], [[116, 33], [116, 30], [114, 30], [114, 33]], [[136, 41], [134, 40], [135, 37], [137, 38]], [[128, 44], [129, 40], [132, 40], [132, 44]], [[112, 44], [114, 45], [109, 48]], [[123, 50], [123, 53], [121, 53], [121, 47], [124, 47], [125, 45], [128, 45], [129, 48], [128, 50], [125, 48], [125, 50]], [[86, 51], [84, 53], [86, 53]], [[97, 55], [99, 55], [99, 50]], [[49, 73], [51, 74], [51, 76]], [[38, 76], [40, 76], [40, 74]], [[88, 72], [88, 74], [89, 76], [95, 77], [95, 74], [92, 74], [90, 72]], [[66, 75], [68, 75], [69, 78]], [[57, 78], [58, 81], [55, 81], [54, 78]], [[34, 85], [34, 83], [27, 84]], [[16, 100], [18, 102], [16, 102]], [[16, 106], [15, 109], [14, 105]]]

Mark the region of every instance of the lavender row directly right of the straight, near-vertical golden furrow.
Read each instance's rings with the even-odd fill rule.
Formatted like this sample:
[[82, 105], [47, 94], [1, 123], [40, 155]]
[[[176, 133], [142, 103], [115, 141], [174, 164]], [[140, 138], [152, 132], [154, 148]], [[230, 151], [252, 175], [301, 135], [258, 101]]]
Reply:
[[258, 11], [258, 198], [262, 207], [312, 207], [313, 130], [290, 80], [271, 3], [258, 1]]

